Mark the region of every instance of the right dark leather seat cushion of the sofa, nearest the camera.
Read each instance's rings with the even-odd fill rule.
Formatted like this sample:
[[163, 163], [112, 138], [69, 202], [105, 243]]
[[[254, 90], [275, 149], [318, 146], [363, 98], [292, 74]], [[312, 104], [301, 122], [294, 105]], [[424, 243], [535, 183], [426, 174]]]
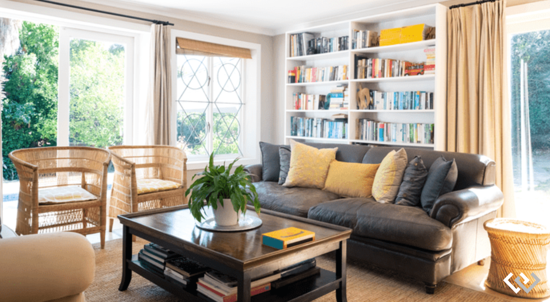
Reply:
[[344, 198], [313, 206], [309, 219], [349, 227], [354, 236], [374, 238], [412, 247], [449, 249], [453, 233], [421, 208], [382, 204], [373, 198]]

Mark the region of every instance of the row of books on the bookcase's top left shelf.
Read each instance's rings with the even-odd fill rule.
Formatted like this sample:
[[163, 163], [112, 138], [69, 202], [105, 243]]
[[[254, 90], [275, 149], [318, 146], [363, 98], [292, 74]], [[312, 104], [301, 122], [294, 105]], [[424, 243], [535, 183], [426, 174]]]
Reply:
[[349, 36], [315, 38], [313, 33], [295, 33], [290, 35], [290, 57], [345, 51], [348, 49], [348, 40]]

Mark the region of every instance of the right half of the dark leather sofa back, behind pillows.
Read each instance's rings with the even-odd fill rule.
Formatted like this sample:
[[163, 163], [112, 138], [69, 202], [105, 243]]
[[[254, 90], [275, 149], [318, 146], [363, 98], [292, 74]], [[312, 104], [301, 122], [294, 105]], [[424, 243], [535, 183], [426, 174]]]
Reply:
[[[399, 148], [375, 147], [368, 150], [362, 159], [364, 164], [379, 164], [382, 159], [391, 151]], [[494, 161], [485, 155], [434, 151], [420, 148], [405, 148], [408, 160], [414, 159], [420, 155], [426, 166], [430, 170], [433, 162], [443, 156], [447, 160], [455, 160], [458, 168], [458, 178], [454, 186], [454, 191], [468, 188], [471, 186], [489, 186], [494, 184], [496, 172]]]

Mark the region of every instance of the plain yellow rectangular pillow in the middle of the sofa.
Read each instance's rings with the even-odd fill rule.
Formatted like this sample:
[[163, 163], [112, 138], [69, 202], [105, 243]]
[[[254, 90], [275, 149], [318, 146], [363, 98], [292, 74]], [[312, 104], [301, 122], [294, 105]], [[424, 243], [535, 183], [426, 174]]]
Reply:
[[345, 197], [372, 197], [372, 183], [380, 164], [344, 163], [334, 160], [328, 168], [324, 190]]

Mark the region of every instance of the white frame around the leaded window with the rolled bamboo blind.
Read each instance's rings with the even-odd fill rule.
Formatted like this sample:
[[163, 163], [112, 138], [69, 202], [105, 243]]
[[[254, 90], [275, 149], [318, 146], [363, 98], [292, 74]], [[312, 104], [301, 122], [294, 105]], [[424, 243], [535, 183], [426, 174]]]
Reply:
[[[223, 164], [232, 161], [236, 157], [241, 158], [238, 161], [240, 165], [256, 164], [260, 159], [260, 150], [257, 144], [260, 141], [260, 109], [261, 109], [261, 44], [232, 40], [228, 38], [203, 35], [201, 33], [172, 30], [172, 125], [171, 125], [171, 144], [175, 146], [177, 142], [177, 114], [178, 103], [177, 96], [177, 54], [175, 54], [176, 38], [187, 38], [191, 40], [204, 41], [209, 43], [224, 44], [227, 46], [249, 48], [252, 59], [245, 59], [243, 64], [244, 82], [243, 95], [245, 100], [243, 105], [243, 115], [240, 119], [240, 148], [243, 155], [224, 154], [215, 156], [215, 164]], [[189, 155], [187, 168], [189, 170], [204, 169], [208, 163], [207, 156]]]

